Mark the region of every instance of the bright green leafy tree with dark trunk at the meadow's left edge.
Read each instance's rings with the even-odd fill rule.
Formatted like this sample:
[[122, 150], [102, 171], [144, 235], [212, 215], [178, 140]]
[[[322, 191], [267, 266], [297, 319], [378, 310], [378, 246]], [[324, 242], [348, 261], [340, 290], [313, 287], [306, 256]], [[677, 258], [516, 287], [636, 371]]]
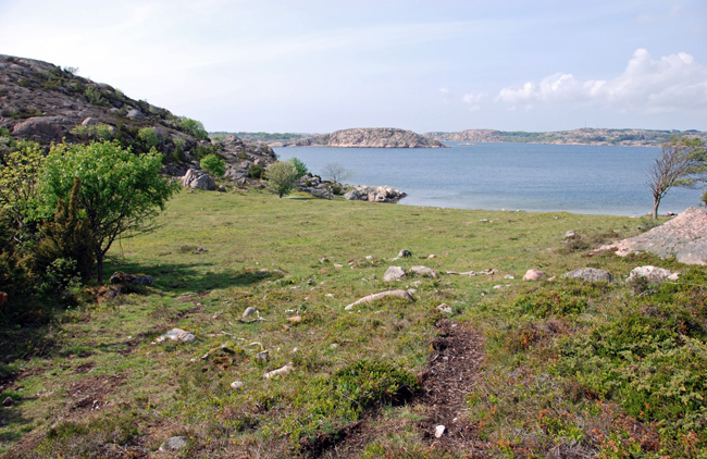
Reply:
[[46, 212], [53, 212], [60, 199], [69, 200], [75, 179], [80, 181], [76, 199], [88, 219], [99, 283], [113, 241], [128, 232], [149, 230], [151, 218], [178, 189], [160, 175], [161, 164], [154, 149], [135, 156], [117, 141], [60, 144], [49, 152], [41, 177]]

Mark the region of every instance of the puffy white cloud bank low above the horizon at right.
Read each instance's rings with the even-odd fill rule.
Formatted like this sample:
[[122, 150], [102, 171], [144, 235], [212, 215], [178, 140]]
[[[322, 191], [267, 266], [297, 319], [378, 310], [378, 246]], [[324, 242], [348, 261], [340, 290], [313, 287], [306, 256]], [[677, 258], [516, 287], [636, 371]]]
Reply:
[[642, 113], [707, 108], [707, 67], [685, 52], [653, 60], [638, 49], [613, 79], [581, 80], [556, 73], [539, 83], [500, 90], [495, 98], [512, 106], [562, 102], [591, 103]]

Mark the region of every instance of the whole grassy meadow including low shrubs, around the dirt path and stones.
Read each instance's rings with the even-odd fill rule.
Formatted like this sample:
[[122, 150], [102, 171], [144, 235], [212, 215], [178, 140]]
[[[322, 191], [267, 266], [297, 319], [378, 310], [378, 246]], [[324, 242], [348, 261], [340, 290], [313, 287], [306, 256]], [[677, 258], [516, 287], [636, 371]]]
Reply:
[[[154, 285], [60, 311], [41, 328], [1, 332], [2, 398], [17, 401], [1, 414], [8, 457], [156, 450], [173, 435], [190, 439], [182, 457], [305, 456], [364, 418], [381, 433], [361, 457], [448, 457], [414, 429], [423, 407], [396, 401], [415, 387], [442, 302], [486, 338], [469, 415], [492, 445], [488, 455], [704, 450], [696, 376], [704, 374], [704, 269], [685, 277], [697, 287], [641, 291], [561, 277], [582, 266], [620, 280], [641, 264], [684, 271], [647, 256], [587, 257], [603, 240], [636, 234], [640, 219], [183, 191], [158, 223], [120, 240], [107, 266], [150, 274]], [[562, 241], [569, 230], [582, 244]], [[413, 256], [389, 261], [404, 248]], [[423, 264], [441, 276], [392, 285], [383, 282], [392, 264]], [[500, 272], [445, 274], [489, 268]], [[557, 280], [523, 283], [531, 268]], [[414, 302], [344, 309], [406, 287], [417, 289]], [[241, 322], [251, 306], [263, 320]], [[175, 326], [197, 340], [152, 344]], [[257, 358], [263, 350], [266, 360]], [[289, 362], [293, 372], [263, 379]], [[657, 376], [674, 362], [689, 374]], [[234, 381], [243, 388], [232, 389]], [[671, 393], [675, 384], [685, 390]], [[682, 406], [685, 393], [694, 397]], [[655, 397], [670, 404], [659, 408]]]

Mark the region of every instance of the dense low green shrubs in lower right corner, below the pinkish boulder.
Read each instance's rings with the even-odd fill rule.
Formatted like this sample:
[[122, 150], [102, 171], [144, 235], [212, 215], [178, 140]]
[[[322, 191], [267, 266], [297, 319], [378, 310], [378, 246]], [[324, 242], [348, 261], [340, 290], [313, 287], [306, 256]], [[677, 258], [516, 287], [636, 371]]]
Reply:
[[[647, 295], [646, 295], [647, 294]], [[645, 290], [616, 319], [558, 343], [560, 375], [656, 422], [669, 442], [707, 445], [707, 273]]]

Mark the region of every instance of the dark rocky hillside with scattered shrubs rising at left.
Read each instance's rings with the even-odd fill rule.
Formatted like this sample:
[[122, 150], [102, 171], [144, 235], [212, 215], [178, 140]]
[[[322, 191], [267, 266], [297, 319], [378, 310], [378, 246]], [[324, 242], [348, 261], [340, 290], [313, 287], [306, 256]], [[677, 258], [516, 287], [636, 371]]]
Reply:
[[116, 139], [138, 153], [154, 146], [165, 157], [165, 172], [174, 175], [198, 169], [200, 158], [216, 152], [226, 160], [226, 175], [245, 183], [251, 164], [265, 166], [275, 160], [264, 144], [235, 136], [212, 141], [201, 123], [77, 76], [72, 69], [4, 54], [0, 54], [0, 128], [15, 139], [46, 146], [63, 138]]

